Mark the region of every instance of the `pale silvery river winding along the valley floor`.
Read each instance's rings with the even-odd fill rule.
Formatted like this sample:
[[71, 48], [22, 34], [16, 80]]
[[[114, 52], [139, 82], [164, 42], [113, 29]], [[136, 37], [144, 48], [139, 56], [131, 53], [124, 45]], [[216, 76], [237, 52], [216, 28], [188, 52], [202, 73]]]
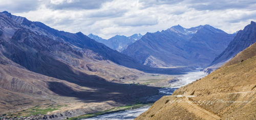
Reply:
[[[170, 84], [169, 87], [159, 89], [159, 95], [148, 97], [147, 98], [148, 101], [157, 101], [162, 96], [172, 95], [176, 89], [178, 89], [186, 84], [189, 84], [193, 81], [196, 81], [197, 79], [203, 78], [204, 76], [207, 75], [207, 73], [204, 73], [203, 71], [200, 71], [200, 70], [202, 70], [202, 69], [196, 69], [194, 71], [188, 72], [187, 74], [184, 74], [182, 77], [178, 78], [178, 79], [180, 79], [179, 81]], [[139, 116], [141, 113], [145, 112], [148, 108], [150, 108], [150, 106], [145, 106], [145, 107], [141, 107], [141, 108], [133, 109], [133, 110], [125, 110], [125, 111], [121, 111], [121, 112], [99, 115], [99, 116], [87, 118], [84, 120], [89, 120], [89, 119], [90, 120], [96, 120], [96, 119], [100, 119], [100, 120], [105, 120], [105, 119], [132, 120], [132, 119], [136, 118], [137, 116]]]

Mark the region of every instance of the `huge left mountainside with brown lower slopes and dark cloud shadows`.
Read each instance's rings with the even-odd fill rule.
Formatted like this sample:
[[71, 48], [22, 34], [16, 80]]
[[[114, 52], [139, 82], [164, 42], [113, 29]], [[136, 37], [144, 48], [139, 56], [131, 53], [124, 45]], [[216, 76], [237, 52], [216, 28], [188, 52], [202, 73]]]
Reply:
[[[54, 99], [60, 96], [74, 97], [72, 100], [92, 106], [109, 102], [111, 108], [158, 93], [156, 87], [122, 84], [145, 74], [124, 66], [144, 68], [133, 58], [80, 32], [57, 31], [40, 22], [0, 13], [1, 113], [54, 104]], [[60, 103], [67, 105], [65, 100]], [[68, 109], [82, 109], [83, 114], [99, 110], [77, 106]]]

